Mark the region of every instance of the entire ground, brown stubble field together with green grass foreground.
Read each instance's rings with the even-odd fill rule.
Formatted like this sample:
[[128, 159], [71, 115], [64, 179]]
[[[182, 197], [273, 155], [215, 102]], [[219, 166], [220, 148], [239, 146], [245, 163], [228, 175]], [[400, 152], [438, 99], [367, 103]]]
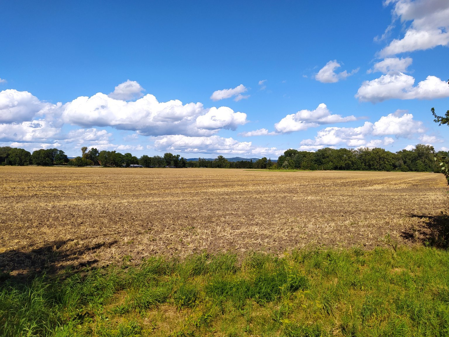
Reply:
[[447, 336], [443, 175], [0, 167], [2, 336]]

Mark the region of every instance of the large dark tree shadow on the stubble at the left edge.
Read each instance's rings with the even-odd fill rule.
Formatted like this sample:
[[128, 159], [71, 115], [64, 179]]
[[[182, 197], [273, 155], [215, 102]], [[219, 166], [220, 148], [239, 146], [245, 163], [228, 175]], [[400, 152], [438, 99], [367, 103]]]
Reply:
[[73, 239], [53, 241], [42, 247], [26, 250], [18, 248], [0, 253], [0, 283], [7, 279], [26, 281], [36, 275], [57, 275], [62, 270], [81, 270], [92, 266], [98, 260], [83, 260], [80, 257], [101, 247], [110, 247], [116, 241], [73, 247]]

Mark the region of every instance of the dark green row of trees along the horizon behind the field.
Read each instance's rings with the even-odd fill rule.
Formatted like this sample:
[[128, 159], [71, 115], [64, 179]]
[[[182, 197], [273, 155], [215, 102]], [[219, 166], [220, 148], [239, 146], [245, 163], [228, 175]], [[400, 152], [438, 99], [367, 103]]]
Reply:
[[[92, 147], [81, 148], [81, 155], [69, 159], [62, 150], [40, 149], [30, 153], [24, 149], [9, 146], [0, 147], [0, 163], [2, 165], [72, 165], [104, 167], [129, 167], [142, 165], [151, 167], [174, 168], [259, 168], [259, 169], [304, 169], [304, 170], [371, 170], [371, 171], [415, 171], [442, 172], [442, 166], [434, 157], [448, 157], [448, 152], [435, 152], [433, 146], [418, 144], [413, 150], [397, 152], [386, 151], [382, 148], [333, 149], [326, 147], [316, 152], [288, 149], [279, 156], [277, 163], [266, 157], [255, 160], [241, 160], [231, 162], [222, 155], [215, 160], [187, 161], [180, 155], [165, 153], [163, 156], [142, 155], [140, 158], [131, 153], [122, 154], [117, 151], [98, 151]], [[444, 169], [444, 168], [443, 168]]]

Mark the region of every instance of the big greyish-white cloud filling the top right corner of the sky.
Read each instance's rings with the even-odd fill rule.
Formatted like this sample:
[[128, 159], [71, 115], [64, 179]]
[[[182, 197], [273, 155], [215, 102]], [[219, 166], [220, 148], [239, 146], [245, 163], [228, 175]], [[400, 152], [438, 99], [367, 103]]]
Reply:
[[394, 4], [394, 18], [411, 23], [403, 38], [392, 40], [380, 51], [381, 57], [449, 44], [449, 1], [387, 0], [385, 4]]

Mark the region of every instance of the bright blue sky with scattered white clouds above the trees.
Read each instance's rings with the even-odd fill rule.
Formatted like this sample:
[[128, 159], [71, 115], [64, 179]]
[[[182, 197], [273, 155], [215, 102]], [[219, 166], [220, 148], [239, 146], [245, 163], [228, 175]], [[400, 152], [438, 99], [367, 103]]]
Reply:
[[449, 2], [0, 4], [0, 146], [449, 150]]

